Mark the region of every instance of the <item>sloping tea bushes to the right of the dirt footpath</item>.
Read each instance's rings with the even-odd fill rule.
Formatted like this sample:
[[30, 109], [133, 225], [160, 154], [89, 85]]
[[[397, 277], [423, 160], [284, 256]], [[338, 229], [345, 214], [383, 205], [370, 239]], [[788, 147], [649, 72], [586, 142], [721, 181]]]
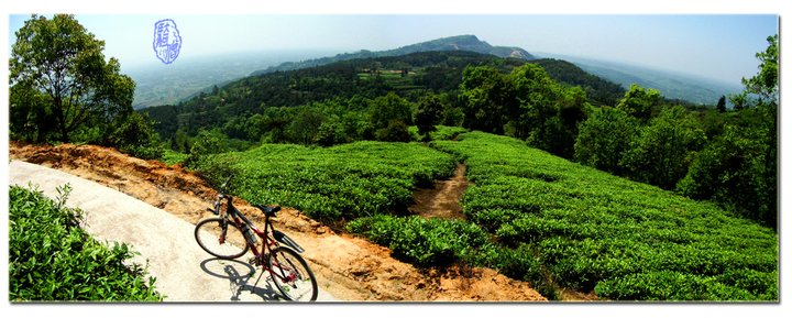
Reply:
[[[502, 249], [535, 255], [560, 286], [613, 299], [778, 299], [772, 229], [505, 136], [471, 132], [433, 145], [468, 165], [469, 219]], [[490, 253], [493, 267], [519, 263]]]

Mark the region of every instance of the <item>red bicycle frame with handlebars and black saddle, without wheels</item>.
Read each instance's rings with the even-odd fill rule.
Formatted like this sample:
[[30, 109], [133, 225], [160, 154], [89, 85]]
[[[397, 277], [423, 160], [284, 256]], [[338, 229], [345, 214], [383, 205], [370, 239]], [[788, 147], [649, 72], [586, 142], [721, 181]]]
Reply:
[[[268, 261], [267, 256], [277, 257], [272, 252], [273, 252], [273, 250], [280, 246], [280, 244], [278, 244], [277, 240], [270, 237], [271, 230], [273, 233], [277, 232], [273, 228], [272, 222], [270, 222], [270, 216], [266, 213], [264, 215], [264, 231], [261, 231], [253, 224], [253, 222], [251, 222], [242, 212], [240, 212], [240, 210], [238, 210], [233, 206], [233, 197], [232, 196], [221, 194], [218, 199], [218, 202], [223, 198], [227, 200], [227, 207], [226, 207], [224, 212], [220, 212], [220, 218], [222, 220], [228, 220], [228, 217], [230, 216], [233, 219], [235, 226], [240, 230], [243, 229], [242, 223], [244, 222], [244, 224], [246, 224], [253, 231], [253, 233], [255, 233], [262, 240], [261, 251], [257, 251], [255, 244], [251, 244], [245, 239], [245, 244], [248, 244], [248, 246], [250, 246], [250, 250], [253, 252], [255, 262], [257, 264], [260, 264], [262, 266], [262, 268], [270, 272], [270, 275], [273, 276], [273, 278], [279, 278], [284, 283], [290, 283], [292, 281], [297, 278], [294, 273], [290, 273], [288, 276], [286, 276], [286, 274], [284, 273], [282, 267], [279, 268], [280, 273], [277, 273], [272, 267], [270, 267], [270, 262], [267, 262]], [[217, 210], [221, 210], [221, 209], [219, 209], [219, 207], [217, 205], [216, 205], [216, 208], [217, 208]], [[223, 227], [226, 227], [226, 224], [223, 224]], [[223, 233], [223, 237], [224, 237], [224, 233]], [[288, 262], [288, 260], [286, 260], [286, 261]], [[279, 264], [279, 261], [277, 263]], [[290, 264], [290, 262], [288, 262], [288, 263], [290, 266], [293, 266], [293, 267], [295, 266], [294, 264]]]

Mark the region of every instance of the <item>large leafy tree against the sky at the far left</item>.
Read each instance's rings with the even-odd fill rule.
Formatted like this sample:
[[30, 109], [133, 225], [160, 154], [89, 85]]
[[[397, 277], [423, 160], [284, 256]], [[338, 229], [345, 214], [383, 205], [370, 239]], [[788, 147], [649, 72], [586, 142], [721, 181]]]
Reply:
[[[10, 85], [16, 87], [11, 89], [12, 108], [26, 110], [23, 118], [37, 121], [38, 139], [52, 132], [57, 140], [69, 142], [76, 130], [107, 129], [114, 118], [132, 111], [134, 81], [120, 74], [116, 58], [105, 61], [103, 48], [105, 42], [74, 15], [55, 14], [48, 20], [33, 14], [16, 31], [9, 61]], [[42, 98], [32, 101], [19, 94]], [[43, 122], [53, 125], [43, 127]]]

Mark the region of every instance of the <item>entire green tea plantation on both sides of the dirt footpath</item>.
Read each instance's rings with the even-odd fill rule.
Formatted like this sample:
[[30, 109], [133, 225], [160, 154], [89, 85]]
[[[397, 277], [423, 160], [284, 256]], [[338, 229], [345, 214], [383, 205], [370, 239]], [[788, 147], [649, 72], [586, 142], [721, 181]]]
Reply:
[[[300, 209], [420, 266], [464, 262], [616, 300], [778, 300], [778, 234], [646, 184], [482, 132], [430, 145], [265, 144], [215, 156], [233, 191]], [[468, 220], [398, 217], [411, 191], [468, 165]], [[396, 212], [396, 216], [394, 216]]]

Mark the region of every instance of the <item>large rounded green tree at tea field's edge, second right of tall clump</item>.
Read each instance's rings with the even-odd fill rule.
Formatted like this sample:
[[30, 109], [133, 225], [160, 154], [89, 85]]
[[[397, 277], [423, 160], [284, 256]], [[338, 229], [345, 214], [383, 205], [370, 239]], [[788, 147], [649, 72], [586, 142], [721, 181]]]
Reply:
[[673, 189], [705, 142], [698, 122], [683, 107], [666, 108], [641, 128], [620, 165], [635, 180]]

